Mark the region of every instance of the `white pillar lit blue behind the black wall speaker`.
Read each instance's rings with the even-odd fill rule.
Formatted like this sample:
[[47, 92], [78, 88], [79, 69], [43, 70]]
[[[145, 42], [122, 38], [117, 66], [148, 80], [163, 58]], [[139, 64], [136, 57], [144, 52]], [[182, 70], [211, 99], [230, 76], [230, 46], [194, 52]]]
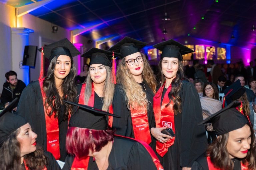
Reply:
[[26, 85], [29, 80], [29, 66], [22, 66], [24, 47], [29, 45], [29, 33], [34, 30], [28, 28], [11, 28], [12, 31], [12, 70], [17, 73], [18, 79], [22, 80]]

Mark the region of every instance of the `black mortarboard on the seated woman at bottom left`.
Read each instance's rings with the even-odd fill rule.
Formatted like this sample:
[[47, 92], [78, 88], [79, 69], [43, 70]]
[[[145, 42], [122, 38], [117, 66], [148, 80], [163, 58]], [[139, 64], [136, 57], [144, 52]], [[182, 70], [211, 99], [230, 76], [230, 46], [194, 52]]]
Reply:
[[18, 98], [15, 98], [0, 112], [0, 147], [11, 133], [27, 123], [23, 117], [10, 112], [17, 100]]

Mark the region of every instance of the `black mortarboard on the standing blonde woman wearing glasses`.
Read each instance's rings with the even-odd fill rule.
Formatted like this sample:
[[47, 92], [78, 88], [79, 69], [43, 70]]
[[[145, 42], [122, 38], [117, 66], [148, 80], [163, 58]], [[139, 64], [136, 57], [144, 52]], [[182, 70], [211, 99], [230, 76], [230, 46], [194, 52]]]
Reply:
[[124, 57], [134, 54], [136, 52], [140, 52], [140, 49], [146, 46], [148, 43], [142, 42], [130, 37], [125, 37], [111, 48], [108, 51], [114, 51], [121, 53], [120, 58], [123, 59]]

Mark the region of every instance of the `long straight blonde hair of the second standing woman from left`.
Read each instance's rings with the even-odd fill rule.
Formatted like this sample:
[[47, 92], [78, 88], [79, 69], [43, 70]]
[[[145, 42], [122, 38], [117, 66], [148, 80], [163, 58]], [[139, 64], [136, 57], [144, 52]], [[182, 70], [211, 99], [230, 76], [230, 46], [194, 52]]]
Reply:
[[[112, 101], [113, 101], [115, 85], [112, 80], [111, 67], [105, 66], [105, 65], [104, 65], [104, 67], [107, 71], [107, 77], [106, 77], [105, 84], [104, 84], [104, 87], [102, 90], [103, 96], [104, 96], [102, 110], [108, 111], [109, 106], [112, 104]], [[89, 70], [90, 70], [90, 68], [89, 68]], [[92, 94], [92, 79], [91, 79], [91, 76], [89, 76], [89, 75], [90, 75], [90, 71], [88, 72], [88, 76], [86, 77], [86, 81], [85, 81], [85, 83], [86, 83], [86, 88], [85, 88], [85, 92], [84, 92], [85, 93], [84, 94], [85, 105], [88, 105], [90, 96]]]

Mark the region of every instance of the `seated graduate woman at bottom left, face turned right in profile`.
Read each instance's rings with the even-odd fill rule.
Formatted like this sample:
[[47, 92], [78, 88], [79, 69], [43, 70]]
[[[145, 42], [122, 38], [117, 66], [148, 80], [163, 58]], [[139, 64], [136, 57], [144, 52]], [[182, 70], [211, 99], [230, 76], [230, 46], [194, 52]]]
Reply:
[[0, 113], [0, 169], [59, 170], [53, 155], [36, 146], [37, 134], [30, 124], [23, 117], [9, 112], [9, 106]]

